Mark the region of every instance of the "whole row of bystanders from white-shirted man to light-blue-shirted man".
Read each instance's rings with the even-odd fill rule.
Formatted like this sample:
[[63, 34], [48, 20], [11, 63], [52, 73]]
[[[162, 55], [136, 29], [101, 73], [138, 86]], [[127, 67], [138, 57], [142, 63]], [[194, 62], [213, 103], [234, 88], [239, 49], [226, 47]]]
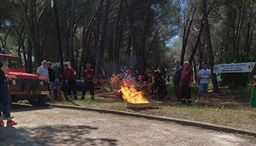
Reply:
[[[50, 89], [50, 99], [53, 99], [53, 88], [56, 86], [56, 77], [51, 69], [51, 63], [48, 61], [42, 61], [42, 66], [37, 69], [37, 74], [40, 77], [46, 77], [49, 83]], [[188, 104], [191, 105], [191, 84], [193, 80], [193, 71], [189, 66], [189, 61], [185, 61], [183, 66], [181, 66], [179, 61], [174, 61], [175, 70], [173, 73], [167, 74], [172, 78], [174, 84], [174, 91], [176, 93], [177, 104]], [[94, 79], [95, 72], [91, 69], [91, 64], [86, 64], [86, 70], [83, 71], [83, 92], [80, 99], [85, 99], [86, 92], [90, 91], [91, 99], [94, 100]], [[152, 99], [156, 101], [161, 101], [167, 96], [165, 77], [157, 67], [152, 67], [147, 69], [145, 74], [140, 72], [140, 69], [135, 70], [135, 74], [132, 74], [132, 70], [123, 69], [121, 66], [121, 72], [116, 76], [118, 80], [126, 82], [129, 85], [135, 85], [138, 91], [142, 91], [143, 96], [148, 97], [152, 95]], [[62, 91], [67, 91], [67, 96], [65, 96], [66, 101], [71, 101], [72, 99], [78, 100], [78, 93], [76, 88], [76, 74], [75, 69], [69, 67], [68, 64], [64, 64], [64, 74], [67, 79], [67, 87], [62, 88]], [[99, 73], [99, 77], [102, 80], [108, 80], [107, 71], [102, 67]], [[200, 96], [204, 96], [203, 102], [206, 102], [206, 93], [208, 92], [208, 80], [211, 78], [211, 72], [208, 70], [208, 64], [203, 65], [203, 69], [197, 74], [198, 79], [200, 79], [200, 89], [198, 91], [198, 99]], [[148, 80], [146, 81], [146, 78]], [[62, 79], [62, 78], [61, 78]], [[63, 82], [59, 79], [59, 82]], [[105, 82], [108, 83], [109, 82]], [[61, 85], [63, 85], [61, 83]], [[111, 89], [112, 91], [112, 89]]]

